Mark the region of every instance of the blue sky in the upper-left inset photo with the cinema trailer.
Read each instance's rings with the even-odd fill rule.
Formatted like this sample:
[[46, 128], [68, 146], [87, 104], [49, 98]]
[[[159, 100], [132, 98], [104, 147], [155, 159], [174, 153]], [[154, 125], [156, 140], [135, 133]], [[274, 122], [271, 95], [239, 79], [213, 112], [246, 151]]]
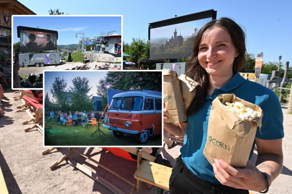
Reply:
[[115, 31], [121, 35], [122, 17], [119, 16], [15, 16], [13, 17], [13, 43], [20, 41], [17, 37], [17, 26], [41, 28], [58, 31], [58, 45], [77, 44], [82, 38], [94, 39], [100, 32]]

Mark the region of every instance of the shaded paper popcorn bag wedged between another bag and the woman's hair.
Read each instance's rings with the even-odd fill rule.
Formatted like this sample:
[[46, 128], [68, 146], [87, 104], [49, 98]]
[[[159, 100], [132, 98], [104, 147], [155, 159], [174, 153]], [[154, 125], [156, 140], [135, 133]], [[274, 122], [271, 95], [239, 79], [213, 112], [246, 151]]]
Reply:
[[198, 83], [194, 82], [193, 79], [186, 76], [185, 74], [181, 74], [178, 77], [178, 80], [181, 88], [182, 101], [184, 102], [186, 112], [189, 109], [189, 105], [196, 96], [196, 87]]

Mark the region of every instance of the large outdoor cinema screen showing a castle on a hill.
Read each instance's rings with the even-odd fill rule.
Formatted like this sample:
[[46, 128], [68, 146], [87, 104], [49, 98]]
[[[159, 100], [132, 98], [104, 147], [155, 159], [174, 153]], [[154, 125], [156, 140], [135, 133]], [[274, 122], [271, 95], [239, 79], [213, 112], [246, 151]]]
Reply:
[[149, 24], [150, 59], [188, 58], [199, 29], [212, 19], [213, 9]]

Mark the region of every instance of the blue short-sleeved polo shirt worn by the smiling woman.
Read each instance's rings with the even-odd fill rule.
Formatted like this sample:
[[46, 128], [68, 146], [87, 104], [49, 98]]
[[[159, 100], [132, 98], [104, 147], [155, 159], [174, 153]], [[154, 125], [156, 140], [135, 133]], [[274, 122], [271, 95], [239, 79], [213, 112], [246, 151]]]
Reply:
[[[263, 110], [261, 133], [259, 127], [256, 137], [263, 140], [275, 140], [284, 137], [283, 113], [278, 96], [261, 84], [245, 80], [236, 73], [222, 88], [215, 88], [212, 95], [207, 95], [201, 110], [190, 115], [187, 121], [184, 145], [181, 157], [187, 168], [206, 181], [220, 184], [215, 178], [213, 167], [203, 155], [207, 140], [208, 119], [212, 101], [220, 94], [234, 94], [236, 97], [253, 103]], [[251, 150], [250, 159], [255, 143]]]

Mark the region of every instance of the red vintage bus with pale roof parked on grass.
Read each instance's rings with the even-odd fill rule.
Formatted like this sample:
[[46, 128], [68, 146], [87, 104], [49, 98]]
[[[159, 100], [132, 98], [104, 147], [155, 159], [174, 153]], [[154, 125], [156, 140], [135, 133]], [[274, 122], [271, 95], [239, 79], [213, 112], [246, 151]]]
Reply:
[[149, 136], [162, 133], [162, 93], [150, 90], [128, 90], [115, 94], [103, 127], [114, 136], [136, 134], [140, 144]]

